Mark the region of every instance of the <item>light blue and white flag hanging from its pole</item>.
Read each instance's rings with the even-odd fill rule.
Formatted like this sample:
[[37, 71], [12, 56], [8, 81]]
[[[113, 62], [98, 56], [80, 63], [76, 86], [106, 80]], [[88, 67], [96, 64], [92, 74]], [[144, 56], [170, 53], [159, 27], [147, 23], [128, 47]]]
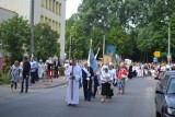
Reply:
[[96, 59], [95, 59], [94, 51], [93, 51], [92, 47], [90, 48], [90, 51], [89, 51], [88, 63], [93, 69], [93, 72], [97, 71], [97, 63], [96, 63]]

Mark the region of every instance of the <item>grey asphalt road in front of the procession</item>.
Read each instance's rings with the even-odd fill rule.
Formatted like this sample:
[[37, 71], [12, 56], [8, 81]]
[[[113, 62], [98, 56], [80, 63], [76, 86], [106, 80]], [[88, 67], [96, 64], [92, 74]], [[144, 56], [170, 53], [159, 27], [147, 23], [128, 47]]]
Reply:
[[14, 98], [0, 102], [0, 117], [154, 117], [154, 86], [155, 81], [151, 78], [130, 80], [126, 94], [115, 92], [107, 103], [101, 103], [100, 95], [92, 102], [84, 102], [80, 90], [78, 107], [66, 105], [66, 85], [32, 90], [28, 94], [15, 93]]

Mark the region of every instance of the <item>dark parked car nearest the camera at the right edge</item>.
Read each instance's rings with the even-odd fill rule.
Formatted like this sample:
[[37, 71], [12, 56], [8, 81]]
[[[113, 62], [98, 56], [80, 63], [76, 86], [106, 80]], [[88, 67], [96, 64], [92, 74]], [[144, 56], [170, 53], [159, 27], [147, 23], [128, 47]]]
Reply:
[[[168, 71], [167, 71], [168, 72]], [[171, 73], [175, 73], [174, 71]], [[155, 89], [156, 117], [175, 117], [175, 74], [165, 73]]]

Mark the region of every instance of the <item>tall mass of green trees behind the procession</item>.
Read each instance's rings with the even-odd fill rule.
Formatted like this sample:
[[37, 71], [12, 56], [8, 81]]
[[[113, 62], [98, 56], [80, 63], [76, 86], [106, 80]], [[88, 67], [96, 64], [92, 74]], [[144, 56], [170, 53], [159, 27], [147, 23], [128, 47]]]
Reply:
[[[166, 60], [168, 26], [171, 51], [175, 50], [174, 4], [174, 0], [83, 0], [78, 13], [67, 21], [67, 31], [78, 23], [78, 43], [93, 38], [95, 50], [102, 48], [105, 35], [106, 44], [116, 46], [117, 54], [125, 58], [152, 61], [153, 52], [160, 50], [161, 59]], [[84, 50], [88, 52], [88, 47]]]

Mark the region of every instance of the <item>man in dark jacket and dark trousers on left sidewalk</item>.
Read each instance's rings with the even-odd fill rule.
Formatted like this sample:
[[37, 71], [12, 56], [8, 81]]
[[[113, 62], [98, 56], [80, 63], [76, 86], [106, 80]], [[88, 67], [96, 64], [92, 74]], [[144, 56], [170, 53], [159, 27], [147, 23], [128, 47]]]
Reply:
[[28, 61], [28, 58], [24, 57], [21, 93], [23, 93], [24, 81], [25, 81], [25, 93], [28, 92], [30, 71], [31, 71], [31, 63]]

